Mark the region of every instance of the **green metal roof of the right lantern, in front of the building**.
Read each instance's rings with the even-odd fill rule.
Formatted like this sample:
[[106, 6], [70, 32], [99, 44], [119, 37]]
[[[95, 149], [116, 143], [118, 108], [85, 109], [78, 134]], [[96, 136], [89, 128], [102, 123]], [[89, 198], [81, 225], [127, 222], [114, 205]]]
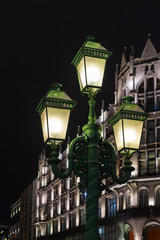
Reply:
[[138, 106], [136, 103], [132, 103], [134, 100], [131, 96], [126, 96], [123, 98], [123, 103], [118, 108], [118, 111], [108, 119], [108, 122], [113, 126], [120, 119], [132, 119], [144, 121], [147, 118], [147, 113], [144, 112], [142, 108]]

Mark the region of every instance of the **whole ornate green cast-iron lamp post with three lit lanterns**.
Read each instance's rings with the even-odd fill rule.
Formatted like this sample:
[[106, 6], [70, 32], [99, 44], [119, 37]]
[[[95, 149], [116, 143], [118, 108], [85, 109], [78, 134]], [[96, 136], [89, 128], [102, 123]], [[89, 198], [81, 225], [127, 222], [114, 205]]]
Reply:
[[132, 103], [132, 97], [125, 97], [117, 113], [109, 119], [114, 129], [117, 150], [125, 155], [122, 169], [124, 177], [120, 179], [116, 175], [115, 148], [101, 137], [102, 129], [96, 123], [95, 113], [95, 97], [102, 87], [105, 63], [110, 55], [100, 43], [89, 37], [72, 61], [77, 68], [81, 92], [89, 97], [89, 116], [88, 124], [82, 128], [84, 135], [70, 143], [69, 167], [65, 173], [58, 168], [61, 162], [58, 159], [58, 146], [65, 139], [70, 110], [76, 103], [60, 91], [61, 85], [53, 84], [37, 107], [41, 115], [44, 140], [51, 147], [48, 162], [54, 174], [59, 178], [67, 178], [74, 171], [80, 177], [80, 190], [87, 191], [84, 240], [100, 240], [98, 198], [105, 189], [102, 181], [108, 177], [119, 184], [129, 180], [134, 170], [130, 158], [139, 148], [143, 121], [146, 119], [145, 112]]

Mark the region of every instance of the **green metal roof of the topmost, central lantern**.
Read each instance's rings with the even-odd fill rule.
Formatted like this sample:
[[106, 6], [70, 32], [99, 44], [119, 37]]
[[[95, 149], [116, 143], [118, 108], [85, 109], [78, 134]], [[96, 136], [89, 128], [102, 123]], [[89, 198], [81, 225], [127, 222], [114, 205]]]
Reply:
[[95, 40], [94, 36], [89, 35], [87, 36], [87, 39], [84, 42], [83, 46], [79, 49], [76, 56], [72, 60], [71, 64], [73, 64], [74, 67], [77, 67], [84, 56], [108, 59], [111, 54], [111, 52], [109, 52]]

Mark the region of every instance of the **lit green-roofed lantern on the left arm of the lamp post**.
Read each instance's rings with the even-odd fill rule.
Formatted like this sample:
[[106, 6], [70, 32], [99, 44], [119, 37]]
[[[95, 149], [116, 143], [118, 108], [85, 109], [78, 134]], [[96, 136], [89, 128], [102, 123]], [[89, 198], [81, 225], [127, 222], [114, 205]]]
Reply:
[[51, 84], [51, 89], [40, 101], [36, 111], [41, 116], [44, 142], [61, 142], [66, 137], [70, 111], [75, 106], [61, 84]]

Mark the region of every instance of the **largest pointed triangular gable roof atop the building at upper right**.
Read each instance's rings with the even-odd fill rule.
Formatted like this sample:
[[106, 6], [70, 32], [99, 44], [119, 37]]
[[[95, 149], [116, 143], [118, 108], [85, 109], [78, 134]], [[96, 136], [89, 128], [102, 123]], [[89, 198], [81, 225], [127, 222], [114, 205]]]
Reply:
[[155, 47], [153, 46], [150, 38], [148, 38], [146, 45], [143, 49], [141, 59], [147, 59], [147, 58], [157, 58], [159, 57]]

